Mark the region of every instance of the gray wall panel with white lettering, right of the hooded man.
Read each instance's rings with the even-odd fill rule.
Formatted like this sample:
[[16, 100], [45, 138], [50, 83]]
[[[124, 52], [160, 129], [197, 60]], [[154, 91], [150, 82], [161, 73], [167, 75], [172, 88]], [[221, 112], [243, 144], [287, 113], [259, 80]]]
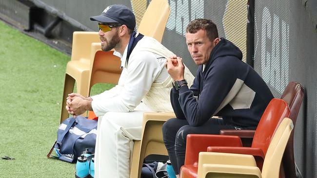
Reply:
[[255, 3], [254, 68], [280, 97], [288, 81], [305, 98], [295, 126], [295, 160], [304, 178], [317, 178], [317, 32], [299, 0]]

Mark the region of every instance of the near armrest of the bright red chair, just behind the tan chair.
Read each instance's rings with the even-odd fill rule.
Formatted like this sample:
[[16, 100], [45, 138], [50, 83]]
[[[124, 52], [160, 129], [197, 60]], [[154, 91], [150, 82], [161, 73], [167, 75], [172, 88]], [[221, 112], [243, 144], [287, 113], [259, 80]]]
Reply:
[[254, 156], [257, 166], [262, 170], [264, 153], [260, 148], [251, 147], [229, 147], [229, 146], [209, 146], [207, 148], [208, 152], [220, 152], [220, 153], [235, 153], [235, 154], [245, 154]]

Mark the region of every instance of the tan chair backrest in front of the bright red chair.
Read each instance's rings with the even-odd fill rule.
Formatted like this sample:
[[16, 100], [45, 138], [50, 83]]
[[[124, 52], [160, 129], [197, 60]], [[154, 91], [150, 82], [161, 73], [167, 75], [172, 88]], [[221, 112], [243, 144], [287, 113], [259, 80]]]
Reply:
[[282, 156], [293, 128], [293, 122], [289, 118], [284, 118], [278, 126], [265, 155], [262, 178], [278, 178]]

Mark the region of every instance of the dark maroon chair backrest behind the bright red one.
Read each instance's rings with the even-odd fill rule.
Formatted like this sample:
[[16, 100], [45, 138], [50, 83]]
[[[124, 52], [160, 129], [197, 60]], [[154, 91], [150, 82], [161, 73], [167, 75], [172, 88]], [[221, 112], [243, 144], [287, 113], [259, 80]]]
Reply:
[[[288, 83], [286, 89], [281, 96], [281, 99], [286, 101], [288, 106], [290, 107], [291, 114], [289, 118], [292, 119], [294, 125], [296, 125], [296, 119], [301, 102], [303, 101], [303, 96], [303, 87], [300, 83], [297, 82]], [[294, 130], [291, 132], [291, 136], [286, 145], [282, 161], [285, 177], [296, 178], [294, 160]]]

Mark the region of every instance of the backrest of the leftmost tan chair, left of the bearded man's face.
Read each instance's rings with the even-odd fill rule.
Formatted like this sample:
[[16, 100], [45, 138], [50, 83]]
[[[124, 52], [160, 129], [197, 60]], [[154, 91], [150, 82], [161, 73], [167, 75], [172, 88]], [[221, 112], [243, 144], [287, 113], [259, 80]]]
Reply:
[[99, 42], [98, 32], [74, 32], [72, 44], [71, 60], [87, 59], [88, 63], [91, 57], [90, 46], [93, 42]]

